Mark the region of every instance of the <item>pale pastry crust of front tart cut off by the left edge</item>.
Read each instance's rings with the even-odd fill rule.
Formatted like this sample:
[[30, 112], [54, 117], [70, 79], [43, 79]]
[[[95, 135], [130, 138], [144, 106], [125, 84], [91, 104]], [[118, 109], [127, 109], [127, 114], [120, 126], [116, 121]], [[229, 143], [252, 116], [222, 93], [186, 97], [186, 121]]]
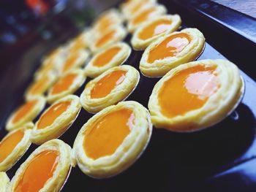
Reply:
[[10, 155], [8, 155], [7, 158], [4, 159], [4, 161], [0, 162], [0, 172], [7, 172], [9, 169], [11, 169], [12, 166], [14, 166], [16, 162], [20, 159], [20, 157], [26, 152], [26, 150], [28, 150], [29, 146], [31, 145], [31, 128], [34, 128], [34, 123], [30, 122], [10, 132], [9, 134], [7, 134], [6, 137], [4, 137], [4, 139], [6, 139], [7, 137], [10, 137], [11, 134], [14, 134], [16, 131], [24, 130], [23, 139], [21, 139], [18, 145], [15, 146], [15, 148], [12, 150], [12, 153], [10, 153]]

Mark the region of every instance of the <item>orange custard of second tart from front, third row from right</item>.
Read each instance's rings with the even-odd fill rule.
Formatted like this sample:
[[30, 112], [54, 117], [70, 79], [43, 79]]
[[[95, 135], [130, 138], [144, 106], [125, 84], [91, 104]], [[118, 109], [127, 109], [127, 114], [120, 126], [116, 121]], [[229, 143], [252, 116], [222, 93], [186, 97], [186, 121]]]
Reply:
[[50, 126], [56, 118], [58, 118], [63, 112], [70, 106], [71, 101], [61, 101], [57, 104], [53, 104], [50, 109], [39, 118], [37, 129]]

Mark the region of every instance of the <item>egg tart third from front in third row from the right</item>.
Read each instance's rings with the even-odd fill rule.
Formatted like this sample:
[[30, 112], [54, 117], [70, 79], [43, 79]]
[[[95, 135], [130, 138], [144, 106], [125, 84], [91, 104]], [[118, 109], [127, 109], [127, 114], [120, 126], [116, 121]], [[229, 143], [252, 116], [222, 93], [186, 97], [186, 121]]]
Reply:
[[82, 69], [74, 69], [59, 77], [59, 80], [50, 88], [47, 100], [50, 104], [64, 96], [75, 93], [86, 80]]

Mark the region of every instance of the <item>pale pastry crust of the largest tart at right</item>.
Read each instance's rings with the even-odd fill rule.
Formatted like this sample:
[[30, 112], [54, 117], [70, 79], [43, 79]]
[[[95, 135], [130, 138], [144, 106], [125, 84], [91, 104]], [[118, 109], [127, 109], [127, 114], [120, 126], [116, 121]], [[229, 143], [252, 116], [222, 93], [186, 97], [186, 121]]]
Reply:
[[[200, 109], [167, 118], [160, 111], [158, 104], [160, 88], [166, 80], [169, 80], [177, 72], [197, 65], [217, 67], [214, 73], [216, 72], [219, 80], [219, 89], [208, 98], [206, 104]], [[172, 69], [157, 82], [149, 98], [148, 109], [151, 113], [152, 123], [157, 128], [167, 128], [170, 131], [177, 132], [197, 131], [225, 118], [230, 110], [233, 110], [233, 107], [236, 106], [243, 92], [244, 84], [235, 64], [221, 59], [194, 61]]]

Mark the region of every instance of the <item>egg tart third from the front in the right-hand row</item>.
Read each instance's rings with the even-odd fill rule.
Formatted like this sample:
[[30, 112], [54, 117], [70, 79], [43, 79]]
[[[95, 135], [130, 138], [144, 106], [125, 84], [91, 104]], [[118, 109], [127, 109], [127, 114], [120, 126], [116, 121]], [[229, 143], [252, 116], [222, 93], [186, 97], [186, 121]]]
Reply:
[[146, 22], [132, 36], [132, 47], [135, 50], [145, 50], [151, 42], [159, 37], [176, 31], [181, 26], [179, 15], [162, 15]]

